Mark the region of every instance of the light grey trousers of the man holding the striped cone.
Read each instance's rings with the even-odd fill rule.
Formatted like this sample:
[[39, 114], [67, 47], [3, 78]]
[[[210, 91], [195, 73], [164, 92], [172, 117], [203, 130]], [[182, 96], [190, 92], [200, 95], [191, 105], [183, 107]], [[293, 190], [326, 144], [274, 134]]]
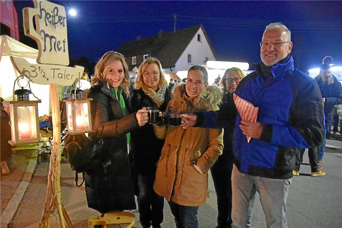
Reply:
[[232, 171], [232, 220], [233, 227], [248, 227], [248, 207], [255, 192], [265, 213], [267, 228], [287, 227], [286, 199], [290, 179], [272, 179], [240, 173], [235, 165]]

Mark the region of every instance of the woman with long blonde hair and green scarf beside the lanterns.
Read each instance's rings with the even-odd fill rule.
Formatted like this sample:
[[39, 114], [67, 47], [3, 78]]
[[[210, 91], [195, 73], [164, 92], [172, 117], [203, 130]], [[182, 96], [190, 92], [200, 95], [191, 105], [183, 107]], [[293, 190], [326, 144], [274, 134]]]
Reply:
[[[120, 53], [107, 52], [95, 66], [88, 98], [92, 140], [102, 141], [101, 162], [84, 172], [88, 206], [102, 214], [134, 210], [128, 160], [129, 132], [143, 125], [146, 113], [130, 113], [128, 66]], [[138, 125], [139, 124], [139, 125]]]

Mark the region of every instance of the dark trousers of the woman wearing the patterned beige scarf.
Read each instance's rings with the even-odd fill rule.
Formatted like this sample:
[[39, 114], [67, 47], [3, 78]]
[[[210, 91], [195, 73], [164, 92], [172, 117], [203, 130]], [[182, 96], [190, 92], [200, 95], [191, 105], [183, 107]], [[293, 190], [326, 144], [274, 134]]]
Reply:
[[138, 173], [138, 209], [143, 227], [159, 226], [163, 222], [164, 198], [153, 190], [156, 175]]

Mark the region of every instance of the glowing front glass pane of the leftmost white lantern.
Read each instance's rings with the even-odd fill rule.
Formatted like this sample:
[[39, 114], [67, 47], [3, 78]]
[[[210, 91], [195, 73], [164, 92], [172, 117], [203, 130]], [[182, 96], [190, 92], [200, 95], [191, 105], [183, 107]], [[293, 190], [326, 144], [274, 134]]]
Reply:
[[37, 138], [35, 106], [17, 107], [18, 138]]

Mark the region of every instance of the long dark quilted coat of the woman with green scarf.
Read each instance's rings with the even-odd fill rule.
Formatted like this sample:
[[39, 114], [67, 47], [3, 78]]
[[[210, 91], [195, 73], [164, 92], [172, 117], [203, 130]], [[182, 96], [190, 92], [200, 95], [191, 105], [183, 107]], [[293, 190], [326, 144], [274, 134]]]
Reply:
[[[122, 95], [128, 104], [126, 94]], [[89, 135], [93, 140], [101, 138], [104, 142], [102, 163], [84, 173], [88, 206], [101, 213], [133, 210], [136, 206], [126, 134], [139, 125], [134, 113], [123, 117], [118, 99], [104, 82], [92, 86], [88, 98], [93, 99], [90, 107], [95, 130]]]

